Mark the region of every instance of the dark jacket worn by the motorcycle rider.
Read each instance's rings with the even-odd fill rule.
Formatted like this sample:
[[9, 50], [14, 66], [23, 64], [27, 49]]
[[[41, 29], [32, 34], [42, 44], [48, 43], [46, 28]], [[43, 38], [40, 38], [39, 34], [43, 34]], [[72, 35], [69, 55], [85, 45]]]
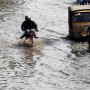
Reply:
[[30, 20], [30, 19], [29, 20], [26, 20], [26, 21], [24, 21], [22, 23], [21, 29], [23, 31], [25, 31], [26, 29], [29, 29], [29, 30], [35, 29], [36, 31], [38, 31], [37, 24], [34, 21]]

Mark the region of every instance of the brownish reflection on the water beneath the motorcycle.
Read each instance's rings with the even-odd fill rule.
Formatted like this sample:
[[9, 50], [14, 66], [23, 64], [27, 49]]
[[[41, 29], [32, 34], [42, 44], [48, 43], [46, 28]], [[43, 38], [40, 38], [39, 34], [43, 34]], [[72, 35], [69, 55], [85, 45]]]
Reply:
[[41, 52], [41, 44], [42, 40], [39, 38], [37, 40], [34, 39], [33, 47], [30, 47], [29, 40], [26, 42], [25, 40], [20, 40], [18, 42], [18, 46], [25, 48], [25, 57], [23, 58], [25, 64], [29, 65], [30, 67], [34, 67], [36, 62], [40, 59]]

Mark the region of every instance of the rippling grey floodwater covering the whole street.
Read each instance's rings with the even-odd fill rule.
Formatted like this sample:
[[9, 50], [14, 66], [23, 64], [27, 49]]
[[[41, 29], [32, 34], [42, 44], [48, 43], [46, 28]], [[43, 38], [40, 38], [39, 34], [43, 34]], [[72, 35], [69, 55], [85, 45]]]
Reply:
[[[87, 42], [65, 39], [68, 6], [76, 0], [0, 0], [0, 90], [90, 90]], [[19, 37], [29, 15], [38, 39]]]

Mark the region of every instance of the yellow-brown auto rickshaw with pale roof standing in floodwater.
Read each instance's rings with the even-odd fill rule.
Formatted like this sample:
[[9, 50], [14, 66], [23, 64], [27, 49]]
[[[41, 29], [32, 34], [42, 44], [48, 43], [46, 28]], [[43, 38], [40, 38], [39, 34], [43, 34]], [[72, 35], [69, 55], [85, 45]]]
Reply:
[[76, 5], [68, 7], [69, 37], [74, 39], [87, 36], [90, 26], [90, 5]]

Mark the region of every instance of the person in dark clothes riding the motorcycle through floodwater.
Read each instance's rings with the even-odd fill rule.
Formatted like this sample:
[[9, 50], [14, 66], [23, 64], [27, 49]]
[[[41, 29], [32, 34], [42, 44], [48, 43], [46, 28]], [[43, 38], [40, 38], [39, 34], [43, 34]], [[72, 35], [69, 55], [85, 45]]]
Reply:
[[[29, 18], [28, 16], [25, 16], [25, 21], [22, 23], [21, 29], [22, 31], [24, 31], [24, 34], [20, 37], [20, 39], [27, 36], [27, 31], [26, 31], [27, 29], [29, 29], [30, 31], [31, 29], [35, 29], [35, 31], [38, 31], [37, 24], [34, 21], [32, 21], [31, 18]], [[34, 31], [34, 37], [37, 38], [35, 31]]]

